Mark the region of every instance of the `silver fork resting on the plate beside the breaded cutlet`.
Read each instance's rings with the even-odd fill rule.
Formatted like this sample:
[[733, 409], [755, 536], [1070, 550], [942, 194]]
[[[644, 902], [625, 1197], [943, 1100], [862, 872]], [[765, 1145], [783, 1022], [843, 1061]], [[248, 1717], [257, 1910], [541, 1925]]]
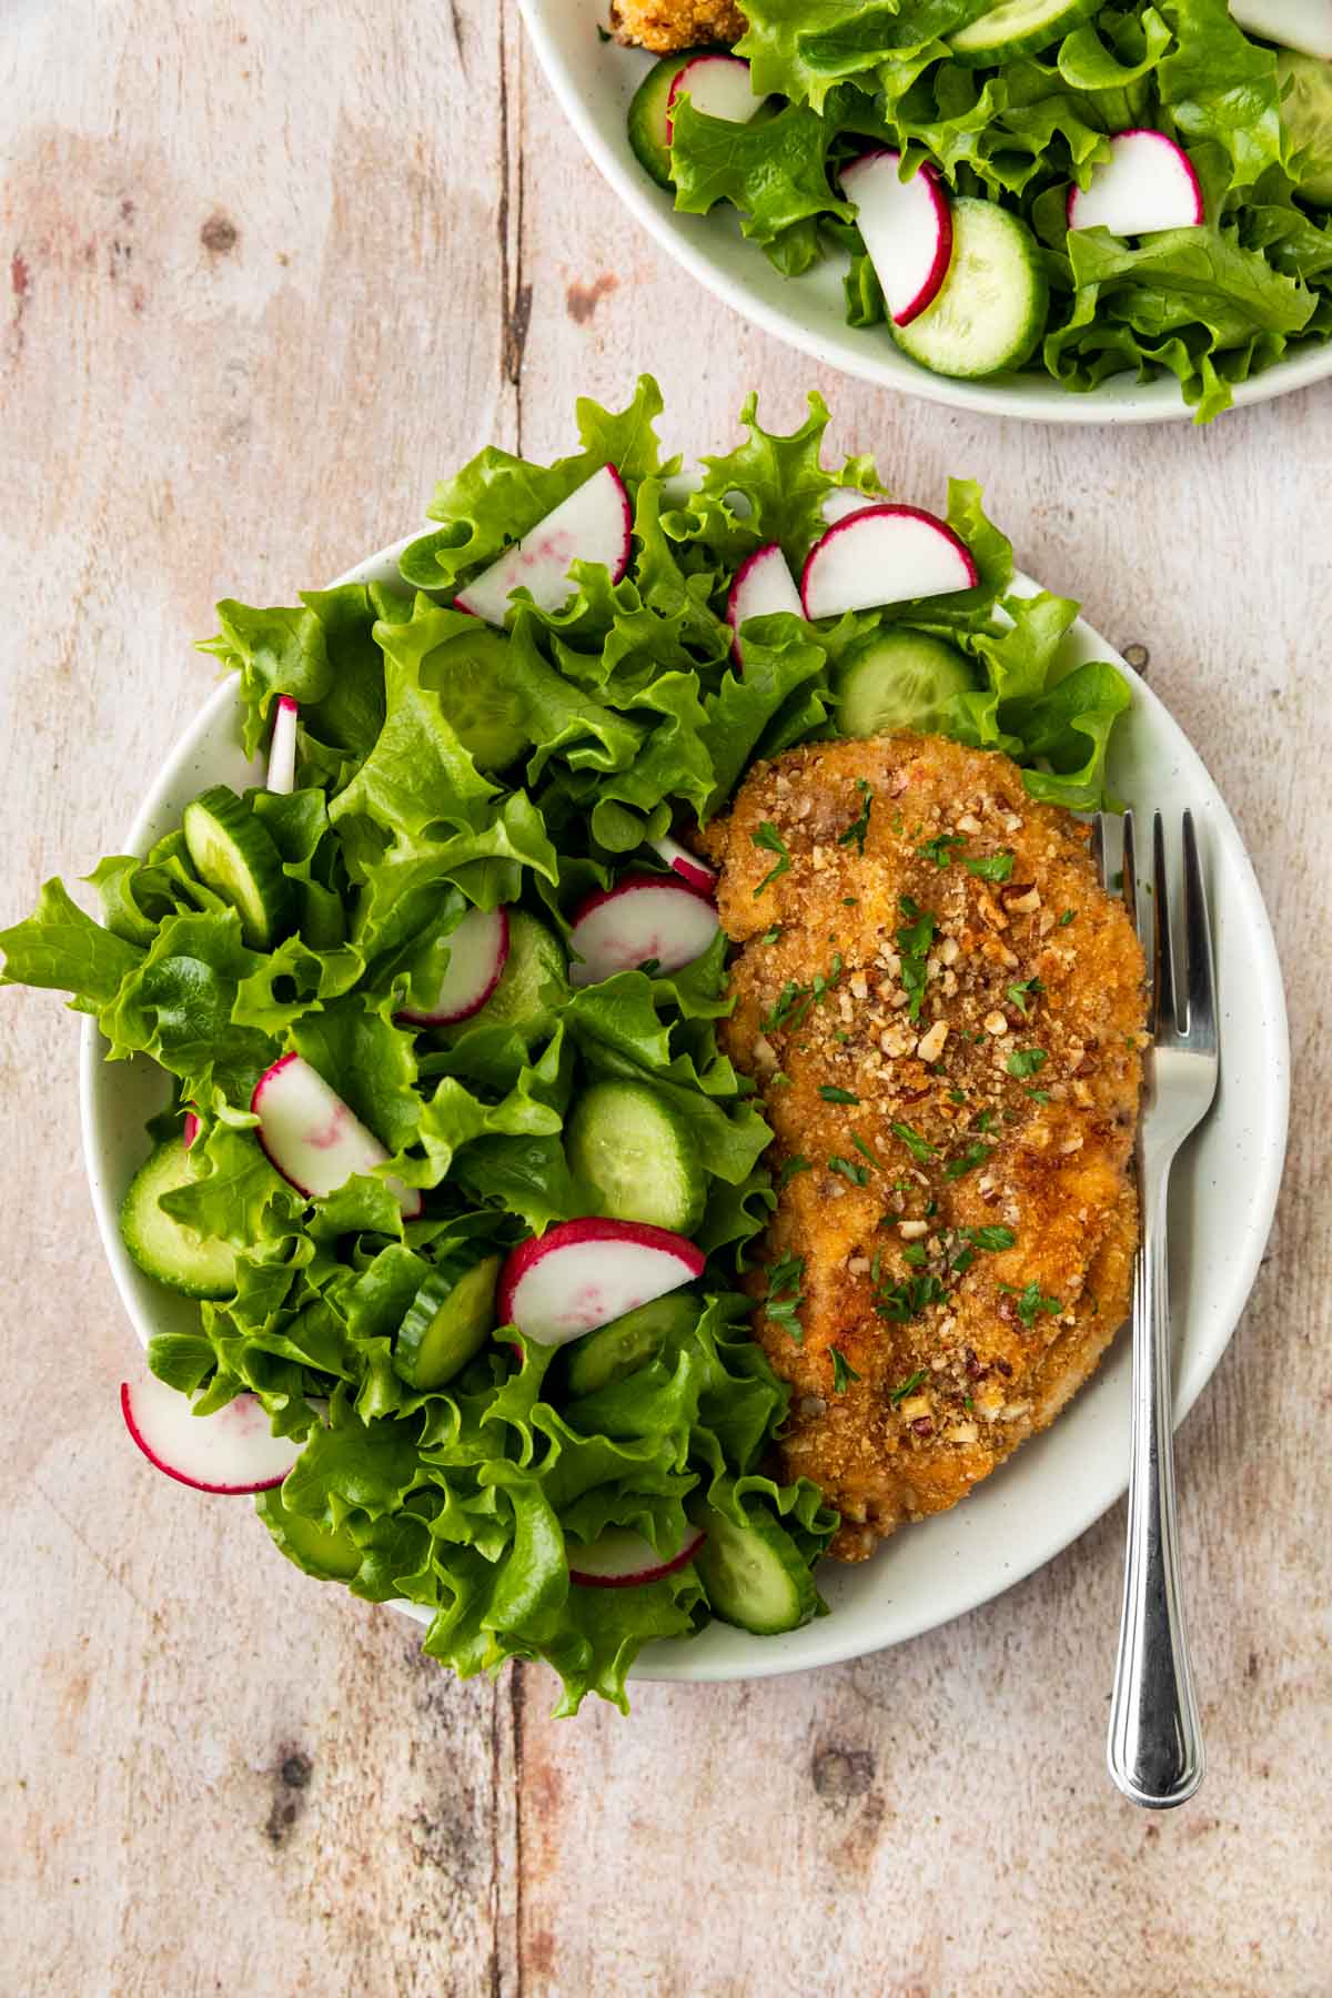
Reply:
[[[1094, 845], [1102, 879], [1104, 827]], [[1110, 1700], [1106, 1762], [1134, 1804], [1168, 1810], [1202, 1782], [1204, 1754], [1194, 1694], [1174, 1506], [1174, 1425], [1170, 1421], [1170, 1279], [1166, 1193], [1180, 1145], [1216, 1095], [1216, 1001], [1212, 931], [1192, 813], [1184, 813], [1184, 957], [1174, 949], [1166, 841], [1152, 813], [1148, 911], [1138, 905], [1132, 811], [1124, 813], [1124, 903], [1138, 929], [1148, 971], [1148, 1049], [1138, 1125], [1138, 1207], [1142, 1239], [1132, 1271], [1132, 1447], [1124, 1606]], [[1182, 973], [1182, 979], [1176, 977]]]

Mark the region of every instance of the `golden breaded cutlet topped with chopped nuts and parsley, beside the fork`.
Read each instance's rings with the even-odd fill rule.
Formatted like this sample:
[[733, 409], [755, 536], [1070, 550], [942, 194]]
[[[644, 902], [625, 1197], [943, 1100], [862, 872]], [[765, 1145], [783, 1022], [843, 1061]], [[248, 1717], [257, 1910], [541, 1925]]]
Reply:
[[755, 1331], [865, 1558], [1044, 1429], [1128, 1311], [1142, 953], [1086, 827], [941, 737], [757, 763], [703, 845], [775, 1131]]

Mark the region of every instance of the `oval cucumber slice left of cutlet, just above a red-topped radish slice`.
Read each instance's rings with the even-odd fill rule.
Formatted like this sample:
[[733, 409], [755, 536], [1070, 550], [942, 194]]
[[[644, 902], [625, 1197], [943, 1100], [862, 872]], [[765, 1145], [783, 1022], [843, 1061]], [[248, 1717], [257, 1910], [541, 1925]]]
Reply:
[[565, 1149], [611, 1221], [689, 1235], [703, 1219], [707, 1175], [693, 1131], [647, 1083], [593, 1083], [573, 1109]]

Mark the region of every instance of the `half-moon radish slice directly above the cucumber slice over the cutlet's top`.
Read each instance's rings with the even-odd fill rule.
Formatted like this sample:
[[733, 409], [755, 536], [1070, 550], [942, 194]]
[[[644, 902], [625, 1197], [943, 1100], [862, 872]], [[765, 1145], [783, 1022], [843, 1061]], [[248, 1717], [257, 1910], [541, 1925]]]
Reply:
[[977, 565], [947, 521], [919, 505], [867, 505], [823, 535], [801, 575], [807, 617], [971, 589]]

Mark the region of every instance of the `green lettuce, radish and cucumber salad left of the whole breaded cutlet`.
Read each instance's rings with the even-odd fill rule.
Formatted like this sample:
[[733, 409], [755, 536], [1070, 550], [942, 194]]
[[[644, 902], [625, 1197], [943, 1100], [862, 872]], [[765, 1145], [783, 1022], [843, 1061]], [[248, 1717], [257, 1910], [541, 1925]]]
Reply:
[[[681, 480], [659, 414], [643, 378], [553, 466], [481, 452], [403, 585], [218, 605], [264, 781], [104, 859], [102, 921], [48, 881], [0, 935], [6, 983], [162, 1071], [122, 1231], [188, 1321], [124, 1389], [136, 1441], [258, 1493], [306, 1572], [423, 1606], [455, 1672], [547, 1660], [563, 1712], [625, 1706], [649, 1640], [819, 1614], [837, 1524], [771, 1477], [771, 1133], [691, 835], [757, 757], [901, 725], [1098, 805], [1128, 705], [1068, 669], [1074, 603], [1012, 593], [977, 486], [945, 519], [823, 470], [817, 396], [793, 436], [751, 400]], [[775, 565], [855, 607], [747, 615]]]

